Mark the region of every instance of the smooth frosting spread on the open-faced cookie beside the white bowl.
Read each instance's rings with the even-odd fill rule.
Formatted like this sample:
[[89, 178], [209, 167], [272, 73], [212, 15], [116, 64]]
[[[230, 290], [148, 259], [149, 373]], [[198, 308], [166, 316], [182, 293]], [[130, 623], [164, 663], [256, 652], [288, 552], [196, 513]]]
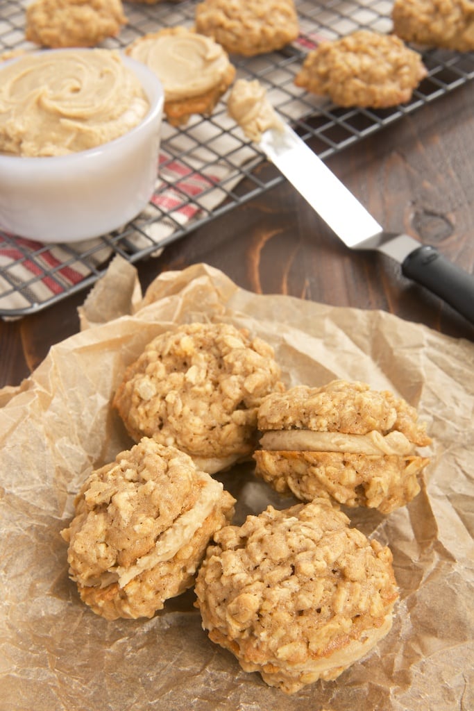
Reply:
[[144, 36], [128, 53], [158, 76], [168, 102], [213, 90], [230, 65], [225, 50], [212, 39], [178, 28]]

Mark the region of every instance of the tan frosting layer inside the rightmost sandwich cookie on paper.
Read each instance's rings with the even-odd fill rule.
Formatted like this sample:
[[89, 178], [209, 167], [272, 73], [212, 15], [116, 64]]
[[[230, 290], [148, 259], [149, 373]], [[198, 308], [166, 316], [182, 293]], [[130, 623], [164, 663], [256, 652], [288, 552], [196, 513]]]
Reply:
[[260, 439], [262, 449], [270, 451], [337, 451], [346, 454], [408, 456], [414, 444], [402, 432], [383, 435], [376, 430], [367, 434], [313, 432], [309, 429], [288, 429], [265, 432]]

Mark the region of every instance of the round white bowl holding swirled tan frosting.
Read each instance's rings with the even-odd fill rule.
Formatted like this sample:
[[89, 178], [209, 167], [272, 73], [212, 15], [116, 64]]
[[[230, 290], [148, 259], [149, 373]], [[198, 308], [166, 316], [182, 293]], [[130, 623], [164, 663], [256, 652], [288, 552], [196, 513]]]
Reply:
[[38, 158], [0, 154], [2, 230], [39, 242], [77, 242], [122, 227], [146, 207], [158, 170], [163, 87], [144, 64], [126, 55], [122, 60], [149, 98], [146, 117], [87, 151]]

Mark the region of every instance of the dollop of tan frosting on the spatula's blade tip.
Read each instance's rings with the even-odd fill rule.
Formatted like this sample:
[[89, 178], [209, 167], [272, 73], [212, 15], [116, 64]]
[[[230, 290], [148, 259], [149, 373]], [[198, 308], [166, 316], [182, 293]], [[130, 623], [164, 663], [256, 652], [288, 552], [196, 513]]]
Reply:
[[258, 142], [267, 129], [283, 130], [283, 123], [258, 79], [235, 82], [227, 100], [227, 112], [251, 141]]

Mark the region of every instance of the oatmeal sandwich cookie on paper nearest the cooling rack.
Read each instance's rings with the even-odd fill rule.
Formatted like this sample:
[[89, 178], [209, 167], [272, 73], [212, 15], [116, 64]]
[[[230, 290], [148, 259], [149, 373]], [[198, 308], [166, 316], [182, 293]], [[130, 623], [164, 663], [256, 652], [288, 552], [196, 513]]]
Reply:
[[252, 454], [257, 408], [282, 390], [274, 352], [229, 324], [187, 324], [146, 346], [115, 394], [130, 436], [154, 437], [214, 473]]

